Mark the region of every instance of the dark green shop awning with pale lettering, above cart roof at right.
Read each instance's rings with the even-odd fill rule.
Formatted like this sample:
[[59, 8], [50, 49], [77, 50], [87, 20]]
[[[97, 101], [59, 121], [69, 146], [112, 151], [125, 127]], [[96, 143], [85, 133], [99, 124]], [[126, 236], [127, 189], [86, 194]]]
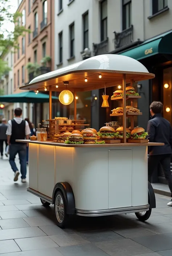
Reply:
[[119, 53], [120, 55], [142, 60], [155, 54], [172, 54], [172, 30], [144, 41], [142, 44]]

